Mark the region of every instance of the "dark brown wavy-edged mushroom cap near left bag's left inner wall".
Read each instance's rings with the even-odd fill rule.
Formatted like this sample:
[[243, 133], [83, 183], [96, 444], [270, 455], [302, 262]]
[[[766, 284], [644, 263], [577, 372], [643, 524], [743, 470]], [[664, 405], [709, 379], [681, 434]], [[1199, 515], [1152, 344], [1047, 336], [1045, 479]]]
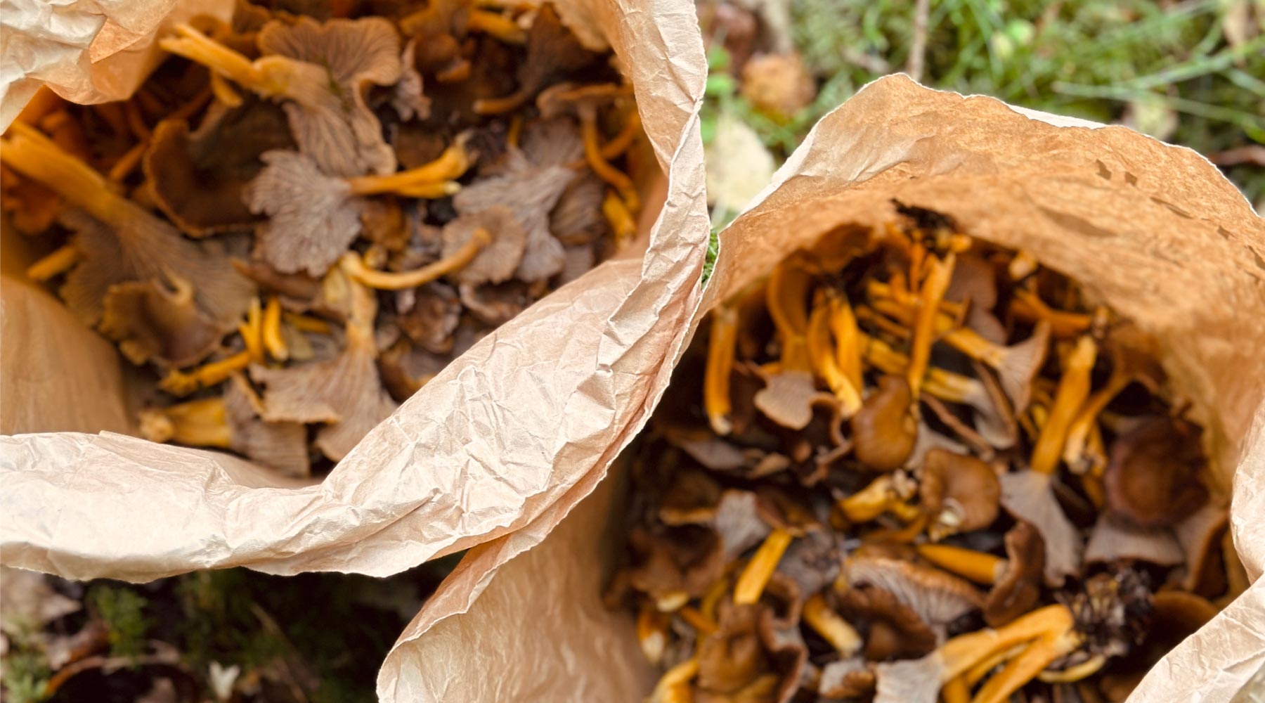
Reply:
[[102, 301], [101, 334], [119, 344], [133, 364], [153, 360], [163, 367], [187, 367], [210, 355], [224, 329], [197, 309], [188, 281], [156, 278], [115, 283]]

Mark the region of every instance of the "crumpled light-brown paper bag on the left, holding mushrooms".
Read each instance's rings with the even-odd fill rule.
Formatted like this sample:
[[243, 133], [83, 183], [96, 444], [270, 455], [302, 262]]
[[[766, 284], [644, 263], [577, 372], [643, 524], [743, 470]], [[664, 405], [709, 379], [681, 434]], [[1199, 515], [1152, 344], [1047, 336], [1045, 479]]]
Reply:
[[[92, 6], [140, 5], [158, 18], [172, 4]], [[636, 91], [667, 181], [644, 257], [607, 262], [503, 325], [323, 483], [299, 486], [225, 454], [113, 434], [132, 425], [118, 354], [24, 279], [20, 238], [6, 238], [0, 429], [16, 436], [0, 437], [5, 564], [129, 580], [235, 565], [388, 575], [531, 523], [615, 458], [667, 384], [701, 295], [706, 64], [688, 0], [555, 5], [591, 46], [614, 48]], [[87, 64], [82, 47], [97, 40], [78, 44], [59, 90], [116, 96], [100, 89], [113, 67]]]

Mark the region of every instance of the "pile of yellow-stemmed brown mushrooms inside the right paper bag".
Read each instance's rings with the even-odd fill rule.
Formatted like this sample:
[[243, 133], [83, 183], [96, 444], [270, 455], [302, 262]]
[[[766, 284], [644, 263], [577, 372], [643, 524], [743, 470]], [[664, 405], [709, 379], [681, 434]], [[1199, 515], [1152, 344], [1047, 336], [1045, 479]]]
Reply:
[[722, 302], [634, 454], [651, 702], [1121, 700], [1246, 587], [1155, 341], [896, 209]]

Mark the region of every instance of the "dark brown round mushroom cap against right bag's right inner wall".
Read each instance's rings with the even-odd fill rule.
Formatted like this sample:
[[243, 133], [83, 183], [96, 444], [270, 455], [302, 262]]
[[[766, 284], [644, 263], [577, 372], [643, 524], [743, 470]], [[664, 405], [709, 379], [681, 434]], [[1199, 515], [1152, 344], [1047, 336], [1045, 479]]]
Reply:
[[1154, 416], [1120, 436], [1103, 477], [1109, 510], [1140, 527], [1174, 525], [1199, 510], [1208, 501], [1202, 434], [1193, 422]]

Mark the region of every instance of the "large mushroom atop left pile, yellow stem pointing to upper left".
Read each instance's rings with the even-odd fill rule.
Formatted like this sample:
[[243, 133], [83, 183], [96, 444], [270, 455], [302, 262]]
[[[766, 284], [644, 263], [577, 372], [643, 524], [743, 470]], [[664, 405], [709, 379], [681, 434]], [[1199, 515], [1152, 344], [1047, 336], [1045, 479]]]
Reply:
[[395, 153], [364, 101], [369, 85], [400, 80], [400, 37], [388, 20], [273, 20], [259, 30], [264, 56], [253, 62], [187, 24], [175, 29], [175, 38], [159, 40], [163, 49], [263, 97], [285, 100], [300, 152], [323, 172], [350, 178], [395, 171]]

